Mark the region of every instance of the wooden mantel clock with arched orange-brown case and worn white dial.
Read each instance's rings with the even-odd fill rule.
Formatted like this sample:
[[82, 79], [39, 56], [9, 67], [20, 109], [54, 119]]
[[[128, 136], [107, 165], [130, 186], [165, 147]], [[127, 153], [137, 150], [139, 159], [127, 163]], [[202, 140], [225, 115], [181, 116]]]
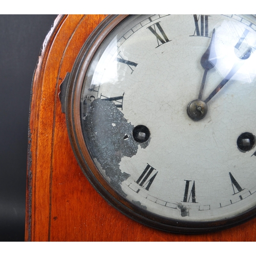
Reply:
[[255, 15], [59, 16], [32, 87], [27, 240], [255, 240], [255, 48]]

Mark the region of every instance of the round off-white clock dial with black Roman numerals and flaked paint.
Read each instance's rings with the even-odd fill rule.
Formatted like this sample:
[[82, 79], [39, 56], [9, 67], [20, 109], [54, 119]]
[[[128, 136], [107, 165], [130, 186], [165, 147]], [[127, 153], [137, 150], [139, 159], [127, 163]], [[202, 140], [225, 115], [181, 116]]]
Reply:
[[[84, 79], [82, 130], [99, 172], [122, 197], [191, 222], [256, 206], [253, 22], [134, 15], [100, 45]], [[197, 99], [208, 109], [195, 105], [200, 120], [187, 109]]]

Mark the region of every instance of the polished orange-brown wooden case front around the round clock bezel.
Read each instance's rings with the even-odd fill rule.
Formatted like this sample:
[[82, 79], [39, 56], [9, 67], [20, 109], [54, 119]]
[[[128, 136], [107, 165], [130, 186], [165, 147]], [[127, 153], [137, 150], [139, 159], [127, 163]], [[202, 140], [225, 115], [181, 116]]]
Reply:
[[61, 113], [59, 85], [105, 17], [59, 15], [42, 46], [30, 108], [26, 241], [255, 241], [256, 219], [197, 235], [146, 227], [111, 207], [83, 175]]

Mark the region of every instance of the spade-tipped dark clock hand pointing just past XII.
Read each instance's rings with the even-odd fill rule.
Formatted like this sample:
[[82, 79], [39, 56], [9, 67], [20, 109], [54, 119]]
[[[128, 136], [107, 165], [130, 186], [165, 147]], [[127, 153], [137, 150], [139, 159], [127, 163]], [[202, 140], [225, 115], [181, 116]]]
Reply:
[[204, 68], [204, 74], [201, 82], [201, 87], [199, 90], [198, 99], [202, 99], [207, 72], [209, 69], [212, 69], [215, 67], [216, 62], [217, 62], [217, 58], [216, 58], [216, 52], [215, 52], [215, 29], [214, 29], [212, 30], [210, 44], [201, 58], [201, 66]]

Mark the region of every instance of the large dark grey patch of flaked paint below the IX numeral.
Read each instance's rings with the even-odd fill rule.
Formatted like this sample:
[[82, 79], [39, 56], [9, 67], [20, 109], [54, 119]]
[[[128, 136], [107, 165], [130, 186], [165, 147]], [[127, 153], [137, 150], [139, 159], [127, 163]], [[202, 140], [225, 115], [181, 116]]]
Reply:
[[[86, 108], [83, 118], [83, 135], [93, 158], [97, 159], [110, 184], [124, 197], [121, 183], [130, 177], [122, 173], [120, 162], [122, 157], [137, 154], [140, 143], [133, 139], [134, 126], [128, 123], [123, 113], [112, 101], [95, 99]], [[113, 125], [114, 124], [114, 125]], [[143, 143], [143, 148], [148, 145]]]

